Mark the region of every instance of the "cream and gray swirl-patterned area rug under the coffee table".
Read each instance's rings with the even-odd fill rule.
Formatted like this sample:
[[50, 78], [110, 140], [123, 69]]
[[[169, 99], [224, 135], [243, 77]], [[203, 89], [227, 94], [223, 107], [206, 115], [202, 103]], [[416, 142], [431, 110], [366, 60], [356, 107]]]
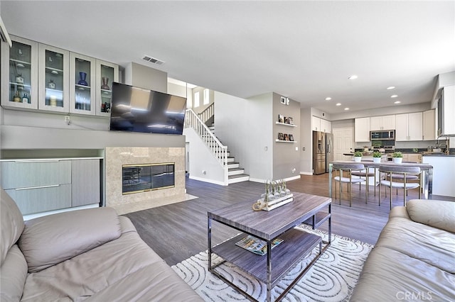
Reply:
[[[327, 233], [311, 230], [306, 225], [300, 225], [297, 229], [321, 235], [324, 240], [328, 237]], [[373, 249], [373, 245], [332, 235], [331, 246], [300, 279], [299, 283], [284, 296], [282, 301], [348, 301], [371, 249]], [[311, 262], [318, 250], [319, 248], [316, 247], [311, 255], [302, 259], [274, 287], [273, 300], [295, 279], [306, 264]], [[248, 301], [241, 293], [208, 272], [207, 255], [207, 251], [200, 252], [172, 268], [205, 301]], [[220, 257], [212, 255], [213, 264], [221, 260]], [[266, 286], [234, 265], [224, 263], [218, 267], [218, 272], [258, 301], [266, 300]]]

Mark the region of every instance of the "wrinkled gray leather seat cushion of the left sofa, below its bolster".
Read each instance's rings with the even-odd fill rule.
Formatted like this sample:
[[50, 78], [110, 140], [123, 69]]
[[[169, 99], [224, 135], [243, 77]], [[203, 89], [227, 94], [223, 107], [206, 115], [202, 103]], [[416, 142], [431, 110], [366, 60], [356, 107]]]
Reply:
[[117, 240], [30, 274], [22, 300], [35, 301], [39, 296], [43, 301], [90, 297], [97, 301], [160, 301], [158, 297], [186, 301], [192, 294], [197, 296], [136, 232], [128, 230]]

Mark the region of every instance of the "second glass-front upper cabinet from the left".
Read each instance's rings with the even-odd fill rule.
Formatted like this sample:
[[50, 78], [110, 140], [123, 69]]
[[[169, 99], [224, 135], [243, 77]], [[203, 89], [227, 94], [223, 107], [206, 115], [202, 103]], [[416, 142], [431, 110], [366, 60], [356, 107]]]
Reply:
[[69, 52], [49, 45], [39, 45], [38, 109], [69, 112]]

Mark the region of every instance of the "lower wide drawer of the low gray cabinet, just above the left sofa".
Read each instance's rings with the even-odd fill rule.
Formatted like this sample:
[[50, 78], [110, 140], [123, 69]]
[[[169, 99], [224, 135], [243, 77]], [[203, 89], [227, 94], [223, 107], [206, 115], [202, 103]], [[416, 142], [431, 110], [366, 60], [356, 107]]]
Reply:
[[71, 207], [71, 185], [62, 184], [35, 189], [9, 189], [23, 215]]

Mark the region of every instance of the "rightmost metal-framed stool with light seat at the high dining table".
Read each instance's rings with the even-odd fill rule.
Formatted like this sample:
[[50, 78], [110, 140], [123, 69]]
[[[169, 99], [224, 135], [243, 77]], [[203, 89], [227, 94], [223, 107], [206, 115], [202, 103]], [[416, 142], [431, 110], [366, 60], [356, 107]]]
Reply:
[[[379, 205], [381, 205], [381, 186], [388, 186], [390, 188], [390, 209], [392, 209], [392, 188], [403, 189], [403, 205], [406, 206], [407, 190], [416, 189], [420, 186], [420, 181], [419, 183], [407, 183], [406, 180], [410, 176], [415, 176], [420, 180], [420, 168], [415, 166], [380, 166], [379, 172], [380, 179], [381, 173], [385, 173], [385, 180], [379, 182]], [[390, 180], [387, 180], [387, 177]], [[402, 181], [394, 181], [394, 179]], [[419, 189], [419, 198], [420, 196], [421, 190]]]

